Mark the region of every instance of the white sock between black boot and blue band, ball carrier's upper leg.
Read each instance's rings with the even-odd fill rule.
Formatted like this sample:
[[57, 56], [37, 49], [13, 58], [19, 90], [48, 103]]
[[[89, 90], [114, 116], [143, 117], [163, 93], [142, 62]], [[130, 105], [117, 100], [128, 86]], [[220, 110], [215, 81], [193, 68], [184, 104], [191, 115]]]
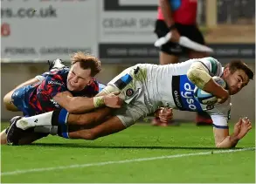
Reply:
[[52, 126], [52, 112], [45, 112], [36, 116], [19, 119], [16, 125], [23, 130], [33, 126]]

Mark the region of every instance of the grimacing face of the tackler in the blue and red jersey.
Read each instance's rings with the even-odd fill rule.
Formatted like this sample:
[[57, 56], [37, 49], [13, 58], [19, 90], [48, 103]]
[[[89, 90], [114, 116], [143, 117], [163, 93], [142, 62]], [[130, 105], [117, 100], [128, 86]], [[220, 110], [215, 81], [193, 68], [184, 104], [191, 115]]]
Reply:
[[91, 69], [82, 69], [80, 63], [75, 63], [67, 76], [67, 89], [80, 92], [92, 80]]

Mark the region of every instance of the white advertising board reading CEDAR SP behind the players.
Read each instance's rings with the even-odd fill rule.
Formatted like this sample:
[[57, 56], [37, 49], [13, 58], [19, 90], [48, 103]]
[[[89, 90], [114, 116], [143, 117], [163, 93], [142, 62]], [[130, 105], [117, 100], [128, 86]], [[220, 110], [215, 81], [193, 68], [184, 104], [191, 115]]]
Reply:
[[100, 43], [153, 43], [157, 2], [100, 1]]

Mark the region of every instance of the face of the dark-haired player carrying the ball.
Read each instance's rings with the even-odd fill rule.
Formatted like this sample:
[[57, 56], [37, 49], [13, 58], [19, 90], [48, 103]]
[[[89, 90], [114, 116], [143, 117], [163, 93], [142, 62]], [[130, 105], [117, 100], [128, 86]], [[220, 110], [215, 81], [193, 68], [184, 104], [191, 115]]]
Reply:
[[228, 68], [226, 68], [224, 71], [224, 79], [228, 85], [231, 95], [238, 93], [249, 82], [246, 72], [237, 70], [236, 72], [232, 73]]

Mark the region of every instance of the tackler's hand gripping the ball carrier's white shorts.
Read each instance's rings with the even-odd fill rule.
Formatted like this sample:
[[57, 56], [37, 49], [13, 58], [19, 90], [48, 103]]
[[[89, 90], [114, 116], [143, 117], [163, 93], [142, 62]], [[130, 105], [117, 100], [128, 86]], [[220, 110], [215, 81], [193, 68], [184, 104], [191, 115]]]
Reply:
[[103, 97], [106, 106], [111, 108], [120, 108], [123, 100], [118, 96], [120, 92], [111, 92]]

